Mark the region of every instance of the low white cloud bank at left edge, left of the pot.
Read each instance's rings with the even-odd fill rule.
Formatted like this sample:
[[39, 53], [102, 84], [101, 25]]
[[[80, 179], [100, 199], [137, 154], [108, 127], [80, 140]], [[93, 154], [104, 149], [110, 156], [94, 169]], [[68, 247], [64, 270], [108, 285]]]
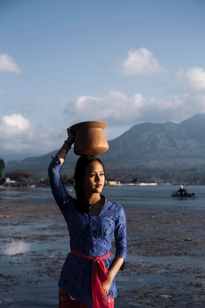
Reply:
[[[66, 129], [63, 136], [66, 136]], [[63, 140], [61, 130], [55, 125], [32, 124], [21, 114], [5, 115], [0, 119], [1, 152], [48, 153], [60, 147]]]

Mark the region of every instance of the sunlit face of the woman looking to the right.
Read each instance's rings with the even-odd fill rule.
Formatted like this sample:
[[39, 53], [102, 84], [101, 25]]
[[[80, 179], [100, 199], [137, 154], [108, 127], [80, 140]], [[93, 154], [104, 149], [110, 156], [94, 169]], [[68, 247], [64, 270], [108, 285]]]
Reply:
[[98, 160], [95, 160], [86, 167], [83, 189], [90, 193], [101, 193], [104, 183], [103, 166]]

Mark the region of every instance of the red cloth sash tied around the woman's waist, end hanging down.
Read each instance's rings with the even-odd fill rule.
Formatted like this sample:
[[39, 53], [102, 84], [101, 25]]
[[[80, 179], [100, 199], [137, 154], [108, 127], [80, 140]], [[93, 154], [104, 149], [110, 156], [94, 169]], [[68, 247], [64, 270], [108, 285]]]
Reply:
[[109, 308], [107, 295], [101, 285], [108, 280], [108, 269], [102, 259], [107, 259], [110, 256], [111, 251], [101, 257], [94, 258], [73, 249], [71, 249], [70, 252], [79, 258], [92, 260], [92, 308]]

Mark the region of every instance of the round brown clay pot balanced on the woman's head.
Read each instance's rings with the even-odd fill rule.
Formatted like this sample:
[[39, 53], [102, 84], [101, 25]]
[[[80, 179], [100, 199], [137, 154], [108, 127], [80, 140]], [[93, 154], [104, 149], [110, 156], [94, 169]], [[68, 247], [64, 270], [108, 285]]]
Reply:
[[75, 133], [74, 153], [77, 155], [98, 155], [109, 149], [103, 129], [106, 123], [88, 121], [74, 124], [70, 129]]

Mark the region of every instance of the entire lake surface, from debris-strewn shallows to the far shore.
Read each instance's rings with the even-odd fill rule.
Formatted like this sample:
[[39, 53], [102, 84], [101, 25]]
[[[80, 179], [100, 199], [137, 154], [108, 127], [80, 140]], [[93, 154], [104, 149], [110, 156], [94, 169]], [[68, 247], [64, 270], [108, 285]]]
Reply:
[[[192, 200], [172, 198], [175, 188], [103, 189], [127, 217], [128, 256], [116, 277], [115, 308], [205, 307], [205, 186], [188, 187], [197, 191]], [[73, 187], [67, 190], [74, 196]], [[0, 235], [1, 307], [58, 308], [69, 237], [50, 189], [1, 189]]]

